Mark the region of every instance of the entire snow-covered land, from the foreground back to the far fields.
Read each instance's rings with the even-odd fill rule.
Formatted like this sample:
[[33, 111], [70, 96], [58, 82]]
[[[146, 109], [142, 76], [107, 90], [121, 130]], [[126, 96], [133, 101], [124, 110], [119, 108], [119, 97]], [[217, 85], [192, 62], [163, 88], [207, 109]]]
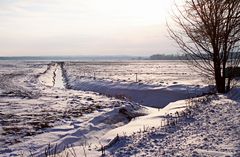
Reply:
[[234, 156], [239, 90], [210, 90], [180, 61], [1, 61], [0, 156]]

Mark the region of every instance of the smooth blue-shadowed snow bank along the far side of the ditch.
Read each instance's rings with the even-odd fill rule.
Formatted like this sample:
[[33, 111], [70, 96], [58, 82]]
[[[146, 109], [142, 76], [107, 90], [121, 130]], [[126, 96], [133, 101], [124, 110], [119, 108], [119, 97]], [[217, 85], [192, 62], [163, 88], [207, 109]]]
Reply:
[[69, 79], [69, 85], [74, 90], [98, 92], [114, 97], [126, 97], [130, 101], [146, 106], [163, 108], [171, 102], [183, 100], [210, 90], [208, 86], [169, 85], [154, 86], [141, 83], [122, 83], [82, 77]]

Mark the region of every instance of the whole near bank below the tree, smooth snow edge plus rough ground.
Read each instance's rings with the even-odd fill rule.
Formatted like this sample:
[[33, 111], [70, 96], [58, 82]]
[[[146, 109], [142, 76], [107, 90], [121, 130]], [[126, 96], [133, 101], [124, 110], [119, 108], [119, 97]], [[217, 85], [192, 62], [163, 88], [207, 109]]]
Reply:
[[[240, 89], [176, 101], [161, 110], [106, 133], [105, 156], [236, 156], [240, 155]], [[82, 146], [73, 147], [84, 154]], [[69, 152], [67, 149], [64, 153]], [[86, 156], [100, 156], [85, 150]], [[61, 154], [62, 155], [62, 154]], [[72, 155], [74, 156], [74, 155]]]

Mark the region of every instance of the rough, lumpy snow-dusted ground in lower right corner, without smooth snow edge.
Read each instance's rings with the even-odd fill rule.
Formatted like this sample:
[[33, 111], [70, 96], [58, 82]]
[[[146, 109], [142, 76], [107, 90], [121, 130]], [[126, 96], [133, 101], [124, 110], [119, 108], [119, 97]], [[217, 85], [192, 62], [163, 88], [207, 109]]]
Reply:
[[[239, 92], [238, 100], [223, 95], [193, 99], [192, 107], [176, 123], [124, 136], [109, 149], [109, 155], [239, 156]], [[172, 118], [176, 119], [176, 114]]]

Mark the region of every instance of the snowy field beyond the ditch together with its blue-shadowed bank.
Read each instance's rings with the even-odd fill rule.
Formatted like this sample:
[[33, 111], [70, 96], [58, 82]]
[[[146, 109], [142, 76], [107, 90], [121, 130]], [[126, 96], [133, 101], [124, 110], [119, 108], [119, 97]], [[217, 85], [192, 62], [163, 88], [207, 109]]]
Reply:
[[156, 108], [209, 91], [203, 78], [180, 61], [67, 62], [64, 68], [72, 89], [126, 97]]

